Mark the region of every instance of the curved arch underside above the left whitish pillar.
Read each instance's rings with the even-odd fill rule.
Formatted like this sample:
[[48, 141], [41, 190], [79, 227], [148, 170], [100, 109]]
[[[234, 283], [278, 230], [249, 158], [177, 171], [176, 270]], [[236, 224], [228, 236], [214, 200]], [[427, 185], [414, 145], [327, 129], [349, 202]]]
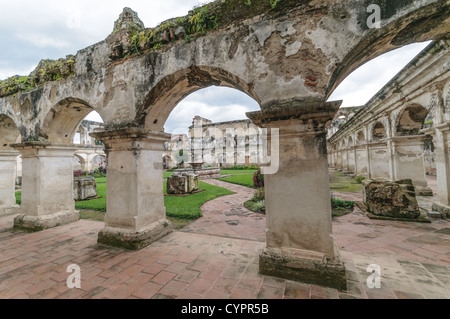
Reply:
[[49, 142], [71, 144], [83, 119], [94, 109], [78, 98], [59, 101], [45, 117], [40, 136]]

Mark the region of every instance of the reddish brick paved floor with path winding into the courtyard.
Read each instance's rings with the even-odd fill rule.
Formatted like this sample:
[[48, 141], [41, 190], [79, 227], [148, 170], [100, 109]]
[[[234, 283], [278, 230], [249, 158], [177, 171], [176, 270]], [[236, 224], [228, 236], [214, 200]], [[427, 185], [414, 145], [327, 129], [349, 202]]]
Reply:
[[[374, 221], [358, 209], [334, 219], [349, 287], [338, 291], [261, 276], [264, 218], [239, 203], [252, 190], [226, 185], [237, 195], [205, 204], [203, 218], [138, 252], [97, 245], [100, 222], [30, 234], [0, 217], [0, 298], [450, 298], [448, 221]], [[81, 268], [81, 289], [67, 288], [70, 264]], [[370, 264], [381, 267], [380, 289], [366, 285]]]

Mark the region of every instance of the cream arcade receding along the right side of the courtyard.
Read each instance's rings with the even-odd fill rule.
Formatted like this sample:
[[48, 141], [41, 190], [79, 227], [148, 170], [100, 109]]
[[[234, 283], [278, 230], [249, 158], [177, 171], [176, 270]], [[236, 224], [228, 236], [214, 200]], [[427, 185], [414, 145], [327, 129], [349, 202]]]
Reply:
[[366, 178], [412, 179], [425, 196], [433, 195], [426, 174], [436, 174], [433, 209], [448, 213], [449, 61], [448, 41], [429, 45], [329, 138], [329, 165]]

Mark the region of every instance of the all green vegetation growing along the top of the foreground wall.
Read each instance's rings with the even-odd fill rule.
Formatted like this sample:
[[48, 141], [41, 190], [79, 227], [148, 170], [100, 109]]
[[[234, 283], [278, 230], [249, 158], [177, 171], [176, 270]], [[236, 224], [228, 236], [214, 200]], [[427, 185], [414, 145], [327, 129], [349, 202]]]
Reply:
[[[196, 40], [208, 31], [231, 25], [257, 15], [279, 14], [289, 11], [299, 4], [298, 0], [218, 0], [196, 7], [187, 16], [161, 23], [156, 28], [139, 29], [133, 26], [129, 31], [130, 47], [116, 60], [141, 55], [148, 50], [155, 50], [165, 44], [183, 40], [185, 43]], [[115, 24], [114, 31], [124, 26]], [[126, 28], [126, 26], [125, 26]], [[0, 98], [26, 91], [46, 82], [65, 79], [75, 72], [75, 57], [65, 59], [42, 60], [29, 76], [12, 76], [0, 81]]]

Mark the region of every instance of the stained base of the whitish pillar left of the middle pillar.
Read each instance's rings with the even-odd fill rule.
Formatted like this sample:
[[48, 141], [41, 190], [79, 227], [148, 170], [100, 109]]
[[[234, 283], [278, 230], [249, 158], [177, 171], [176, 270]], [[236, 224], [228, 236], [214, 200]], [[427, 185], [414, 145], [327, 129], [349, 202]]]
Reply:
[[19, 215], [14, 218], [14, 229], [37, 232], [70, 224], [80, 219], [79, 211], [65, 211], [43, 216]]

